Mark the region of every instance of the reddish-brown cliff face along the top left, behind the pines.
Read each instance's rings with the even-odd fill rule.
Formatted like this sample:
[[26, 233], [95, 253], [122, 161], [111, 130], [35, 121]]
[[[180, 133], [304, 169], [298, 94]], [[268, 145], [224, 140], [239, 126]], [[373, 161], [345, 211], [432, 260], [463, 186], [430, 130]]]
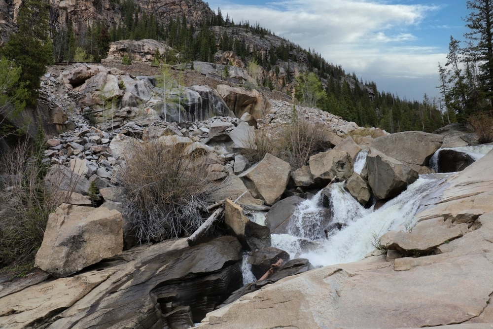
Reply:
[[[0, 43], [15, 31], [15, 19], [24, 0], [0, 0]], [[83, 33], [88, 24], [101, 21], [107, 27], [118, 25], [122, 13], [112, 0], [50, 0], [51, 25], [59, 30], [69, 20], [75, 33]], [[123, 2], [123, 0], [120, 0]], [[212, 15], [212, 10], [202, 0], [135, 0], [147, 13], [153, 12], [158, 20], [166, 23], [170, 18], [185, 15], [189, 23], [197, 23]]]

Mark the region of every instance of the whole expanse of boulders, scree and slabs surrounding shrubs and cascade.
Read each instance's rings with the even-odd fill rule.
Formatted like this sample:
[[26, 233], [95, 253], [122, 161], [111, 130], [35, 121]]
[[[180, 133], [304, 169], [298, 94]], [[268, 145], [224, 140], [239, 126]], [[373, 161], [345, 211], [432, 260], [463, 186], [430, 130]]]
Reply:
[[[176, 86], [171, 94], [180, 102], [185, 93], [186, 102], [167, 108], [170, 95], [156, 81], [88, 65], [45, 76], [44, 93], [67, 95], [49, 100], [73, 105], [66, 131], [47, 141], [46, 161], [54, 166], [46, 183], [72, 193], [50, 215], [36, 255], [40, 270], [0, 282], [0, 328], [492, 328], [493, 152], [426, 191], [416, 226], [380, 238], [386, 253], [314, 269], [271, 247], [271, 234], [287, 233], [300, 202], [345, 180], [362, 205], [384, 203], [432, 171], [437, 149], [463, 141], [387, 134], [295, 106], [323, 131], [324, 150], [301, 168], [285, 154], [250, 163], [241, 154], [248, 139], [290, 124], [291, 103], [218, 84]], [[354, 131], [380, 137], [356, 144]], [[193, 244], [138, 245], [117, 172], [129, 145], [153, 138], [182, 144], [210, 164], [207, 177], [216, 185], [208, 201], [218, 207], [210, 213], [224, 211], [220, 230]], [[100, 191], [96, 208], [91, 185]], [[251, 211], [268, 212], [265, 225], [251, 220]], [[330, 209], [325, 215], [328, 225]], [[319, 235], [341, 229], [334, 224], [341, 223]], [[249, 283], [241, 268], [246, 252]]]

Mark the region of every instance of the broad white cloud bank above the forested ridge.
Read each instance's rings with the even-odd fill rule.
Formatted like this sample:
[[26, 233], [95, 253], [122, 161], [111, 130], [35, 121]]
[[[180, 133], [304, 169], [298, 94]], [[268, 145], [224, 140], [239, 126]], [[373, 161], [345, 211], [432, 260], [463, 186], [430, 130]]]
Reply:
[[[235, 22], [258, 22], [276, 35], [316, 49], [331, 63], [363, 79], [436, 76], [445, 54], [416, 46], [413, 32], [441, 7], [379, 0], [283, 0], [264, 6], [216, 2]], [[214, 7], [214, 5], [212, 5]], [[414, 45], [414, 46], [413, 46]], [[423, 94], [419, 92], [419, 94]], [[416, 95], [408, 98], [418, 97]]]

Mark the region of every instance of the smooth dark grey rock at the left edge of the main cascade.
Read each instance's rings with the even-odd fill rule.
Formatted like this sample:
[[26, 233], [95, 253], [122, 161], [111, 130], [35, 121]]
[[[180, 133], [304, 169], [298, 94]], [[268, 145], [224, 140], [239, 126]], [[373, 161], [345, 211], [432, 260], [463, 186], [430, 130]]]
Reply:
[[293, 215], [300, 202], [305, 201], [298, 196], [290, 196], [276, 202], [267, 213], [265, 224], [270, 228], [272, 234], [287, 234], [289, 219]]

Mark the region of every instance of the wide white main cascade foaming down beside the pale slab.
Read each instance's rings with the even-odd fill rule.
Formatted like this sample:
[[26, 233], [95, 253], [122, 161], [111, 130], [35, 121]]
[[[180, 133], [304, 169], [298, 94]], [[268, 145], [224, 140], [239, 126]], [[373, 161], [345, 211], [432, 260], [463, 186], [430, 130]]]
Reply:
[[[308, 258], [314, 266], [347, 263], [362, 259], [375, 248], [372, 234], [381, 236], [389, 230], [405, 230], [416, 224], [417, 213], [425, 192], [442, 182], [448, 175], [423, 175], [397, 197], [376, 211], [365, 209], [342, 188], [342, 183], [329, 186], [330, 222], [342, 223], [341, 230], [331, 230], [328, 237], [313, 233], [323, 232], [321, 224], [327, 216], [318, 212], [321, 194], [302, 202], [294, 214], [296, 229], [291, 234], [272, 236], [273, 247], [285, 250], [291, 258]], [[327, 212], [325, 212], [326, 214]], [[315, 216], [314, 216], [315, 215]], [[314, 223], [315, 222], [315, 223]], [[313, 226], [308, 227], [307, 226]]]

